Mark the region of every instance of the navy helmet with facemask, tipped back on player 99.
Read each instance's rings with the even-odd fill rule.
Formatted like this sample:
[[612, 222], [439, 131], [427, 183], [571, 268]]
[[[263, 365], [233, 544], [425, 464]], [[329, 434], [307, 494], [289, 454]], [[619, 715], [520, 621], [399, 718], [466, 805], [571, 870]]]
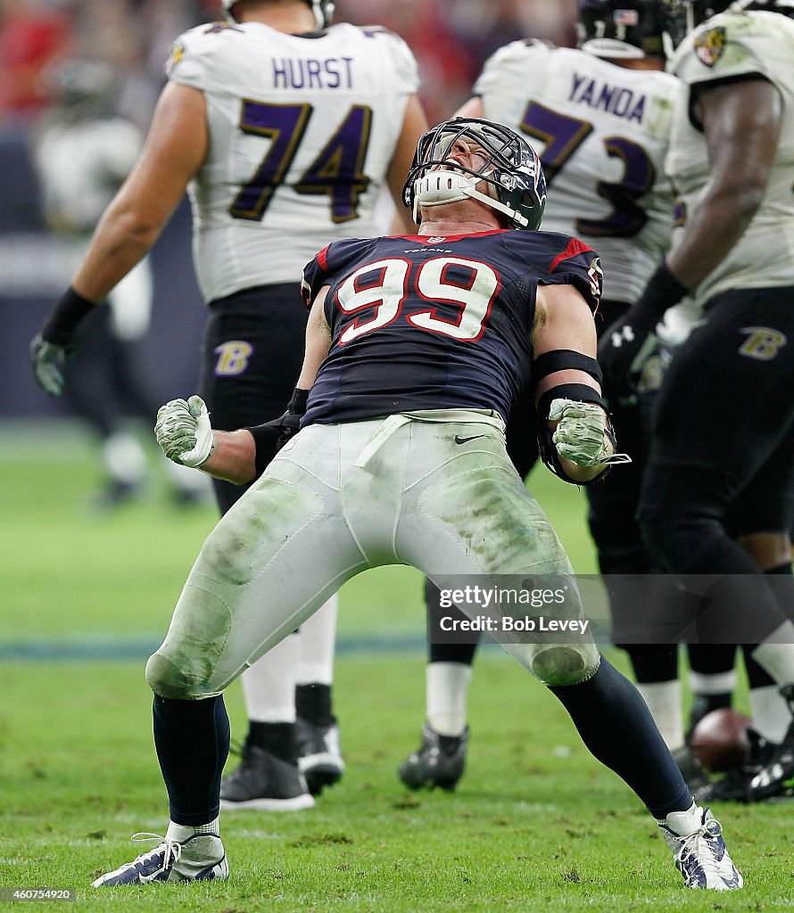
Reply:
[[[450, 161], [456, 144], [476, 147], [484, 163], [477, 170]], [[484, 182], [485, 187], [482, 187]], [[505, 216], [513, 228], [534, 231], [545, 206], [543, 168], [517, 133], [481, 118], [453, 118], [425, 133], [403, 187], [403, 201], [417, 225], [420, 206], [475, 199]]]

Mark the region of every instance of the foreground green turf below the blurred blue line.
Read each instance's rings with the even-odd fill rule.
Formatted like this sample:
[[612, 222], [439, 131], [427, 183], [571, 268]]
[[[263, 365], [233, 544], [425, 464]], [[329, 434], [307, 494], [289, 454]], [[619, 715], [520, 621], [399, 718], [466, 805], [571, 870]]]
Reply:
[[[132, 832], [165, 826], [142, 668], [6, 666], [0, 886], [69, 887], [70, 909], [91, 910], [794, 907], [790, 806], [717, 807], [746, 889], [686, 891], [639, 803], [588, 756], [543, 687], [497, 651], [478, 661], [459, 790], [406, 792], [395, 768], [415, 747], [421, 686], [421, 656], [344, 658], [348, 770], [315, 809], [225, 814], [226, 884], [96, 892], [92, 877], [138, 852]], [[233, 687], [239, 730], [238, 697]]]

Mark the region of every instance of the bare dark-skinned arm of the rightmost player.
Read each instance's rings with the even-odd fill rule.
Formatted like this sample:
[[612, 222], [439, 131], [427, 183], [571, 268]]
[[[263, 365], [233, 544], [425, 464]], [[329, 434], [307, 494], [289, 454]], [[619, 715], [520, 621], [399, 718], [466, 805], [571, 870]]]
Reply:
[[725, 259], [761, 204], [778, 147], [782, 100], [766, 79], [705, 86], [694, 116], [703, 124], [711, 178], [687, 213], [681, 244], [668, 257], [674, 276], [693, 289]]

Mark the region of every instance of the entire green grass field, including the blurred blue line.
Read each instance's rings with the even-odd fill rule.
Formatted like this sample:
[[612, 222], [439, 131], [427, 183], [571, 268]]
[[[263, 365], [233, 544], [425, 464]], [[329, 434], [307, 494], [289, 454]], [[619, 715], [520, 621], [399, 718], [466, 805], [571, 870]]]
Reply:
[[[343, 782], [308, 812], [225, 815], [227, 883], [90, 889], [139, 852], [133, 832], [164, 832], [143, 664], [214, 512], [170, 508], [157, 486], [91, 517], [97, 469], [85, 443], [0, 433], [0, 890], [69, 888], [79, 910], [794, 908], [791, 805], [717, 806], [746, 888], [686, 891], [640, 803], [498, 648], [476, 664], [458, 791], [405, 791], [396, 767], [424, 707], [421, 580], [405, 568], [368, 572], [342, 593]], [[577, 571], [593, 572], [583, 496], [548, 474], [536, 481]], [[242, 737], [238, 684], [227, 703]]]

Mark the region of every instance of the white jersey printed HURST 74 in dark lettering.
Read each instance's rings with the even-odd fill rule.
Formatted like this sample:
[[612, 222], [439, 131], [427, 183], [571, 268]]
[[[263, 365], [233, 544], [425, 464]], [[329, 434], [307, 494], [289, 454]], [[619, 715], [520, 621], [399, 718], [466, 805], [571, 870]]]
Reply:
[[259, 22], [179, 37], [169, 79], [206, 96], [209, 150], [190, 196], [207, 301], [300, 283], [318, 250], [376, 235], [416, 60], [377, 26], [286, 35]]

